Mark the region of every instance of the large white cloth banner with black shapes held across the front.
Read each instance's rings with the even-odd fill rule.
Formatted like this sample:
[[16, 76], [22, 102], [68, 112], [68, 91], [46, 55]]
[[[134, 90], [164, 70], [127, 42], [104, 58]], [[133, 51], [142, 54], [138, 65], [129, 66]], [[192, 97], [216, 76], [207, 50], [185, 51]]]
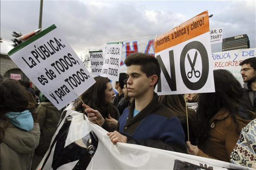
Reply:
[[37, 167], [44, 169], [207, 169], [251, 168], [205, 157], [182, 154], [135, 144], [113, 145], [107, 131], [66, 110]]

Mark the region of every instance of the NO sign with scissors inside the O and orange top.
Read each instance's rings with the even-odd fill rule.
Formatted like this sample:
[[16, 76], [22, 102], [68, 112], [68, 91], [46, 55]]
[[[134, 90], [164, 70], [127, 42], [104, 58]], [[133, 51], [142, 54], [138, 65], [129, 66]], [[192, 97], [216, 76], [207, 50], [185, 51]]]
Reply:
[[161, 67], [159, 95], [214, 92], [208, 11], [159, 36], [155, 56]]

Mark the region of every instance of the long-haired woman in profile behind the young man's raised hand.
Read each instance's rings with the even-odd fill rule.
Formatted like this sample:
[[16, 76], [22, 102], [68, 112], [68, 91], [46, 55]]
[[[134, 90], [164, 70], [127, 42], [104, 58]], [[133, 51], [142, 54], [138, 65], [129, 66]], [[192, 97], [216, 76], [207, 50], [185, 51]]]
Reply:
[[[86, 105], [101, 113], [102, 117], [106, 120], [102, 128], [108, 132], [113, 132], [117, 126], [117, 120], [120, 117], [119, 111], [112, 103], [115, 92], [108, 78], [98, 76], [94, 80], [96, 83], [86, 90], [80, 98]], [[84, 112], [82, 101], [75, 101], [76, 111]]]

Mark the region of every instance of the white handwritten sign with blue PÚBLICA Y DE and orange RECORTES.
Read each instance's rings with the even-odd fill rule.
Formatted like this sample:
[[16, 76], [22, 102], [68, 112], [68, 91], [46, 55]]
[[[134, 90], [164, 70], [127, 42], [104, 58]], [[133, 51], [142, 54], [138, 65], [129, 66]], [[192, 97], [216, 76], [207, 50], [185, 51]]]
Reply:
[[243, 84], [243, 78], [240, 74], [241, 66], [239, 64], [247, 58], [256, 57], [255, 51], [256, 48], [248, 48], [212, 53], [212, 65], [214, 69], [229, 70]]

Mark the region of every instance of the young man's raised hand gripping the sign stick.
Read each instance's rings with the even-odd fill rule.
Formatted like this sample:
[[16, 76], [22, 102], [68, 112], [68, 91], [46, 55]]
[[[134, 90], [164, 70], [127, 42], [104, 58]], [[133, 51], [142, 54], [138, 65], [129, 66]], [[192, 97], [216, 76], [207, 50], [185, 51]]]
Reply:
[[[84, 104], [82, 104], [82, 106], [84, 108], [86, 108], [86, 106]], [[94, 110], [92, 108], [86, 108], [85, 112], [87, 113], [87, 117], [88, 117], [89, 121], [91, 121], [92, 123], [95, 123], [98, 125], [98, 123], [97, 123], [97, 121], [98, 121], [100, 123], [100, 126], [102, 126], [104, 124], [105, 120], [98, 110]]]

